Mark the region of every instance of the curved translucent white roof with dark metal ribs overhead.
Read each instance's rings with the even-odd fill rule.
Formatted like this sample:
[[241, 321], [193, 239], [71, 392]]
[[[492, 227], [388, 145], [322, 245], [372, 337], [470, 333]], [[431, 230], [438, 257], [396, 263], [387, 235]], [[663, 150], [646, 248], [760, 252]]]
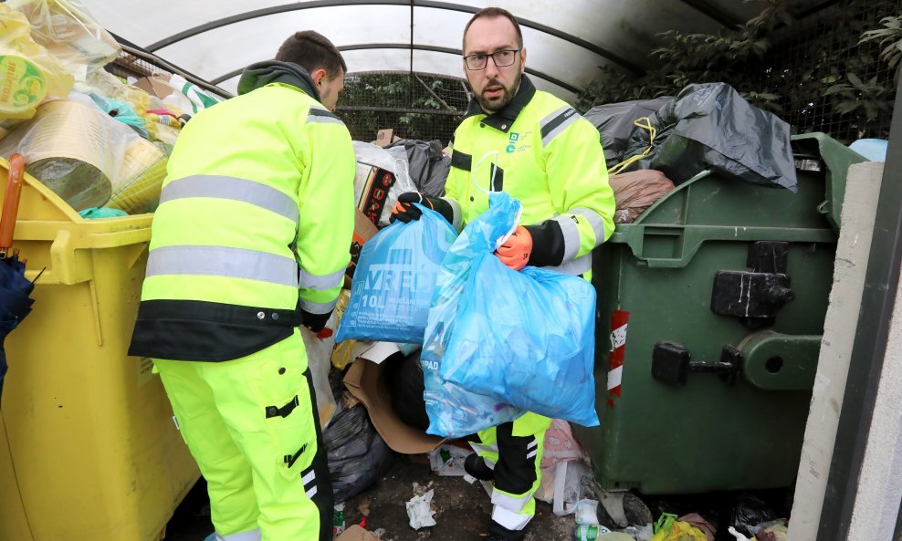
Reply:
[[[805, 16], [836, 0], [800, 0]], [[711, 32], [757, 15], [739, 0], [83, 0], [101, 25], [131, 43], [234, 92], [241, 70], [275, 56], [291, 33], [315, 29], [342, 50], [349, 73], [414, 71], [462, 77], [461, 36], [478, 9], [517, 16], [530, 52], [527, 71], [562, 99], [599, 66], [641, 73], [654, 36]], [[251, 5], [252, 4], [252, 5]]]

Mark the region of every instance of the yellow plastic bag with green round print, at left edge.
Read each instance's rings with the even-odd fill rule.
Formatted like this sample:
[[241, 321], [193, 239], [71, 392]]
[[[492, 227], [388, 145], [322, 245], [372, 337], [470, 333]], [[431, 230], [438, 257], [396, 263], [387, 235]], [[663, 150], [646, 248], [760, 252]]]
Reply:
[[57, 57], [32, 40], [26, 16], [0, 4], [0, 138], [9, 120], [35, 116], [48, 96], [65, 98], [73, 78]]

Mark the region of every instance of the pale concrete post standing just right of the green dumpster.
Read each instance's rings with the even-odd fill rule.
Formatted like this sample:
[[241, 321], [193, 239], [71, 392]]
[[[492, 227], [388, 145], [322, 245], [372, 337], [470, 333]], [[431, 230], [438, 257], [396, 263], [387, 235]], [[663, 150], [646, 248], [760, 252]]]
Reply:
[[[792, 541], [814, 541], [817, 537], [823, 494], [827, 487], [836, 440], [836, 427], [843, 405], [849, 358], [855, 343], [855, 326], [865, 287], [865, 272], [882, 176], [883, 162], [865, 162], [853, 165], [849, 170], [843, 205], [843, 228], [836, 246], [834, 286], [823, 324], [821, 354], [792, 506], [788, 533], [788, 538]], [[902, 327], [902, 318], [899, 321], [899, 326]], [[896, 505], [898, 506], [898, 500]], [[895, 516], [894, 514], [894, 520]], [[872, 537], [869, 541], [876, 539], [877, 537]]]

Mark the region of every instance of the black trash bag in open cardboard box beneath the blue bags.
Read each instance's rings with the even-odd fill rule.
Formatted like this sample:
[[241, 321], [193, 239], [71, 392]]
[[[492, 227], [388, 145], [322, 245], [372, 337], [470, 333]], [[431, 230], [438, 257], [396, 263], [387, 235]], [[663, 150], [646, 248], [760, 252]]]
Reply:
[[429, 416], [426, 414], [426, 402], [423, 398], [425, 384], [420, 352], [421, 350], [417, 350], [409, 357], [396, 354], [385, 359], [383, 378], [392, 401], [392, 410], [398, 419], [426, 432], [429, 428]]

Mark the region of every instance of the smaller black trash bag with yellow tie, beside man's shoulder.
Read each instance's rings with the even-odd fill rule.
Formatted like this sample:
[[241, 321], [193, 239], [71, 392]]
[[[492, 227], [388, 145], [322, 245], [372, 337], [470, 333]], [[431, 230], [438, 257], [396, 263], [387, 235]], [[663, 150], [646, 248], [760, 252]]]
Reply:
[[635, 99], [621, 103], [596, 105], [583, 115], [593, 123], [601, 135], [604, 161], [607, 168], [624, 161], [624, 152], [628, 148], [630, 135], [635, 130], [634, 122], [654, 114], [668, 99]]

